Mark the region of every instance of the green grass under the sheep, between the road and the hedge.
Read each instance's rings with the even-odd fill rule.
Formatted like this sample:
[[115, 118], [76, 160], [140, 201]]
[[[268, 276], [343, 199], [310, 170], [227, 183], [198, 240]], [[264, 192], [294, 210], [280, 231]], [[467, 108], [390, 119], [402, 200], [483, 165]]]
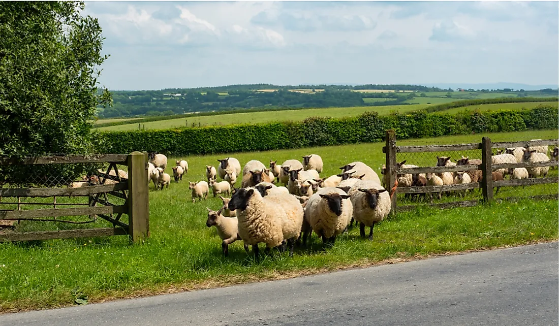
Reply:
[[[557, 132], [484, 136], [492, 141], [551, 139], [557, 137]], [[480, 139], [481, 135], [451, 136], [402, 141], [399, 145], [479, 142]], [[181, 183], [173, 182], [163, 191], [155, 191], [153, 184], [150, 185], [151, 237], [141, 245], [129, 245], [125, 237], [0, 243], [0, 311], [53, 308], [86, 297], [89, 302], [96, 302], [281, 279], [368, 266], [383, 260], [406, 261], [558, 238], [557, 200], [524, 200], [448, 210], [427, 207], [399, 213], [378, 224], [372, 242], [359, 238], [358, 229], [353, 228], [340, 236], [334, 247], [323, 250], [313, 234], [309, 250], [298, 249], [292, 258], [275, 254], [255, 263], [240, 242], [230, 245], [230, 257], [222, 256], [215, 228], [205, 226], [206, 207], [217, 209], [221, 201], [210, 194], [209, 199], [193, 204], [187, 189], [188, 180], [204, 179], [204, 166], [216, 165], [216, 159], [222, 157], [236, 157], [241, 164], [250, 159], [268, 164], [271, 159], [283, 162], [316, 153], [324, 160], [322, 175], [328, 176], [338, 173], [339, 166], [351, 161], [364, 161], [378, 170], [384, 161], [382, 146], [383, 143], [366, 143], [183, 157], [190, 169]], [[174, 159], [169, 157], [168, 173]], [[530, 190], [517, 188], [517, 191]], [[49, 225], [53, 227], [52, 224]]]

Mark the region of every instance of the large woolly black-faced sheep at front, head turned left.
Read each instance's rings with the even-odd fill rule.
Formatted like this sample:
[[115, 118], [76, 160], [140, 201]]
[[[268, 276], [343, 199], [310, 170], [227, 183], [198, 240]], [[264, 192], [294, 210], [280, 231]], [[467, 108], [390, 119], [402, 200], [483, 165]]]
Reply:
[[236, 210], [239, 236], [244, 244], [252, 245], [255, 260], [258, 260], [258, 243], [266, 243], [267, 252], [282, 244], [281, 205], [265, 200], [258, 191], [249, 187], [235, 191], [228, 208]]

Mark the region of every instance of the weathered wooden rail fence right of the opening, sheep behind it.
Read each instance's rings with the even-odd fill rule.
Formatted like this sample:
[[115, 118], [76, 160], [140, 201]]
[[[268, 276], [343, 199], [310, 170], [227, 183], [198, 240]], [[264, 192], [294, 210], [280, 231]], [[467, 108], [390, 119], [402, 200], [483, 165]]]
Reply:
[[[430, 204], [431, 207], [438, 208], [451, 208], [451, 207], [470, 207], [480, 203], [489, 203], [493, 200], [507, 200], [507, 199], [520, 199], [519, 197], [508, 197], [503, 199], [494, 199], [494, 188], [507, 187], [507, 186], [527, 186], [536, 184], [557, 184], [559, 183], [558, 177], [547, 178], [528, 178], [523, 180], [503, 180], [493, 181], [492, 171], [497, 169], [509, 169], [515, 167], [542, 167], [542, 166], [557, 166], [557, 161], [549, 160], [546, 162], [538, 163], [507, 163], [507, 164], [492, 164], [491, 155], [492, 148], [508, 148], [508, 147], [527, 147], [527, 146], [557, 146], [559, 140], [538, 140], [538, 141], [520, 141], [520, 142], [491, 142], [488, 137], [482, 137], [481, 143], [468, 143], [459, 145], [425, 145], [425, 146], [396, 146], [396, 133], [392, 130], [386, 132], [386, 145], [382, 147], [382, 152], [386, 154], [386, 170], [384, 177], [386, 178], [387, 190], [392, 190], [395, 185], [397, 176], [404, 174], [420, 174], [420, 173], [442, 173], [442, 172], [458, 172], [458, 171], [482, 171], [482, 180], [477, 183], [467, 184], [453, 184], [444, 186], [400, 186], [398, 185], [394, 194], [391, 196], [393, 214], [397, 210], [410, 210], [414, 209], [416, 205], [402, 205], [397, 207], [397, 193], [403, 194], [421, 194], [421, 193], [443, 193], [446, 191], [457, 191], [467, 189], [481, 188], [483, 198], [482, 200], [462, 200], [459, 202], [451, 203], [438, 203]], [[450, 152], [450, 151], [467, 151], [467, 150], [481, 150], [480, 165], [458, 165], [458, 166], [428, 166], [428, 167], [411, 167], [402, 169], [397, 168], [396, 154], [397, 153], [430, 153], [430, 152]], [[408, 162], [408, 164], [410, 164]], [[557, 194], [548, 195], [533, 195], [523, 196], [522, 198], [534, 199], [557, 199]]]

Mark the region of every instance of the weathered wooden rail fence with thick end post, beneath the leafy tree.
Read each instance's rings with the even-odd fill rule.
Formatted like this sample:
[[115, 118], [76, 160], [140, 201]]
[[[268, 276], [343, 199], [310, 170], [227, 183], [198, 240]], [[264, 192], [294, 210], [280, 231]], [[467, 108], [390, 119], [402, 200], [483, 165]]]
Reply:
[[[0, 210], [1, 220], [35, 220], [47, 222], [71, 222], [57, 220], [57, 217], [89, 215], [92, 220], [97, 217], [113, 224], [108, 228], [74, 229], [43, 232], [7, 232], [0, 233], [0, 242], [28, 241], [57, 238], [82, 238], [100, 236], [120, 236], [128, 234], [133, 242], [141, 242], [149, 237], [149, 192], [148, 192], [148, 158], [141, 152], [129, 155], [98, 154], [98, 155], [64, 155], [64, 156], [38, 156], [38, 157], [9, 157], [0, 159], [0, 166], [6, 165], [50, 165], [50, 164], [87, 164], [109, 163], [105, 173], [99, 172], [100, 185], [85, 186], [83, 188], [0, 188], [0, 199], [6, 197], [18, 198], [17, 210]], [[117, 164], [126, 165], [128, 178], [119, 175]], [[111, 175], [111, 170], [115, 175]], [[104, 184], [106, 180], [115, 180], [117, 183]], [[108, 202], [107, 194], [125, 200], [123, 205], [113, 205]], [[87, 196], [88, 203], [61, 204], [56, 203], [56, 198], [61, 196], [76, 197]], [[20, 209], [20, 198], [38, 197], [53, 198], [52, 209]], [[0, 200], [1, 202], [1, 200]], [[4, 203], [6, 204], [6, 203]], [[45, 203], [21, 203], [32, 205], [45, 205]], [[99, 204], [99, 205], [98, 205]], [[78, 208], [57, 208], [64, 205], [87, 205]], [[122, 214], [127, 214], [128, 224], [120, 220]], [[48, 219], [52, 217], [53, 219]]]

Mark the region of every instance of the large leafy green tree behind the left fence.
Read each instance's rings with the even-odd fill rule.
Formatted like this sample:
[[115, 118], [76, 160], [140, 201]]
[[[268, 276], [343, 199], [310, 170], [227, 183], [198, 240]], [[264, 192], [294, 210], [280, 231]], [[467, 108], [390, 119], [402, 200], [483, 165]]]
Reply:
[[[103, 37], [83, 2], [0, 2], [0, 155], [88, 154]], [[110, 112], [110, 111], [109, 111]]]

